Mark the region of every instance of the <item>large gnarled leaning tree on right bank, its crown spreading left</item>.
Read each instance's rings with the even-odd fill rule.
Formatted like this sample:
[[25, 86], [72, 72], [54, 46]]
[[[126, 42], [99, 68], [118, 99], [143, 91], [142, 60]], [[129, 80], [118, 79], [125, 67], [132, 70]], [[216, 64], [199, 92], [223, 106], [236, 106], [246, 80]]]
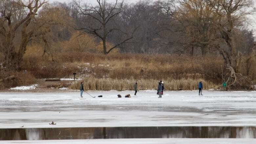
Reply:
[[[179, 9], [184, 12], [182, 18], [188, 21], [189, 27], [194, 26], [196, 22], [206, 26], [206, 33], [198, 32], [206, 39], [195, 35], [194, 41], [197, 44], [208, 44], [221, 54], [228, 71], [228, 76], [224, 79], [228, 86], [246, 79], [237, 70], [239, 52], [235, 37], [237, 31], [245, 26], [248, 15], [255, 12], [253, 0], [179, 0], [179, 2], [181, 4]], [[203, 17], [203, 20], [200, 17]]]

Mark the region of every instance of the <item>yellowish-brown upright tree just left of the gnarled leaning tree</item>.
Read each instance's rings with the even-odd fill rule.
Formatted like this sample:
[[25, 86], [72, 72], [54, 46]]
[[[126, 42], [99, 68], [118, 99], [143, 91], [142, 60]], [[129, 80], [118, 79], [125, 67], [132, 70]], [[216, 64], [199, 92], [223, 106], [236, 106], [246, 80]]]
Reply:
[[180, 23], [179, 31], [184, 35], [184, 44], [191, 48], [200, 48], [202, 55], [209, 52], [212, 35], [216, 29], [209, 23], [214, 21], [213, 8], [209, 0], [180, 0], [174, 17]]

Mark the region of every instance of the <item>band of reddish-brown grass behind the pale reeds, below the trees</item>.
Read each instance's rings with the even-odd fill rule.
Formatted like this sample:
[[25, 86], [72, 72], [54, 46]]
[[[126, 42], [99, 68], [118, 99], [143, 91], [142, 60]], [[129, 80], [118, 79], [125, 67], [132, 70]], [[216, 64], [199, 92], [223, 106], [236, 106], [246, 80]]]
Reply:
[[[86, 63], [90, 63], [89, 65]], [[36, 78], [71, 77], [73, 72], [112, 79], [205, 79], [221, 81], [221, 57], [146, 54], [59, 53], [50, 57], [28, 55], [24, 69]], [[141, 68], [144, 69], [141, 72]], [[77, 75], [77, 76], [79, 76]], [[83, 76], [82, 76], [83, 77]]]

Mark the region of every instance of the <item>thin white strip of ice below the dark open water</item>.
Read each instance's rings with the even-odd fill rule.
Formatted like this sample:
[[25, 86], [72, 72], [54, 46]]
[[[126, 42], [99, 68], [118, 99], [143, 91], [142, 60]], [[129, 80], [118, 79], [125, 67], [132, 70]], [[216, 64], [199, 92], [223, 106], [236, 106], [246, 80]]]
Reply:
[[15, 140], [1, 144], [255, 144], [255, 139], [226, 138], [141, 138], [141, 139], [84, 139], [84, 140]]

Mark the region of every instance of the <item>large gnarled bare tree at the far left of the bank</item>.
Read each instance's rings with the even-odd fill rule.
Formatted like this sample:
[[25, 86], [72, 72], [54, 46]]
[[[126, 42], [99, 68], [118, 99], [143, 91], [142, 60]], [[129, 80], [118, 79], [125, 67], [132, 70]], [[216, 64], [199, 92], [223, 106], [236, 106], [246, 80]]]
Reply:
[[[30, 24], [45, 0], [1, 0], [0, 2], [0, 51], [5, 55], [7, 70], [17, 70], [34, 30]], [[20, 35], [19, 35], [20, 31]], [[14, 41], [17, 41], [15, 43]], [[17, 46], [18, 51], [15, 51]]]

